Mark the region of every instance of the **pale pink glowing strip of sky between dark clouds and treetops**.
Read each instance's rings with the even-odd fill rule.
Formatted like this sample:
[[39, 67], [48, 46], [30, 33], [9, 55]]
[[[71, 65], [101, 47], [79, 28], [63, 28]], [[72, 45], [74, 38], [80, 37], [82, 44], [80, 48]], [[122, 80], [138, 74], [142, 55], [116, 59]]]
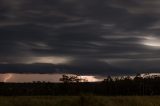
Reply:
[[[147, 76], [160, 76], [160, 73], [140, 73], [141, 77]], [[76, 76], [76, 74], [40, 74], [40, 73], [0, 73], [0, 82], [5, 83], [29, 83], [29, 82], [51, 82], [51, 83], [61, 83], [60, 78], [62, 75], [68, 76]], [[148, 75], [148, 76], [149, 76]], [[108, 75], [114, 78], [128, 77], [130, 76], [132, 79], [136, 77], [134, 75]], [[108, 76], [92, 76], [92, 75], [78, 75], [79, 78], [85, 79], [87, 82], [99, 82], [106, 79]]]

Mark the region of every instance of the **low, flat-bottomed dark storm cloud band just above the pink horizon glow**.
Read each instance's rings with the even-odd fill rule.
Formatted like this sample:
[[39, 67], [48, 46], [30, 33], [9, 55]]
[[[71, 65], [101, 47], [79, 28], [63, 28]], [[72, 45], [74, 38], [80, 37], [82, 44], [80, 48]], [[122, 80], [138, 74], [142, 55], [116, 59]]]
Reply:
[[[88, 62], [86, 64], [84, 62]], [[23, 71], [22, 71], [23, 70]], [[117, 70], [119, 71], [117, 73]], [[123, 70], [124, 71], [124, 70]], [[53, 64], [1, 64], [0, 73], [65, 73], [77, 75], [120, 75], [125, 73], [121, 68], [113, 67], [105, 62], [79, 60], [71, 65]], [[129, 72], [129, 71], [128, 71]], [[129, 72], [131, 73], [131, 72]]]

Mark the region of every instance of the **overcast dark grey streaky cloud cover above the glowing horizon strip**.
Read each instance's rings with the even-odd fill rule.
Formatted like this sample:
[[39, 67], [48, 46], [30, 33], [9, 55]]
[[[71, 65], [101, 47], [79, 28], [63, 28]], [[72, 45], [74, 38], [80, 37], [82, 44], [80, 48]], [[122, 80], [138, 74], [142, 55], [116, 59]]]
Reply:
[[159, 0], [0, 0], [0, 73], [160, 72]]

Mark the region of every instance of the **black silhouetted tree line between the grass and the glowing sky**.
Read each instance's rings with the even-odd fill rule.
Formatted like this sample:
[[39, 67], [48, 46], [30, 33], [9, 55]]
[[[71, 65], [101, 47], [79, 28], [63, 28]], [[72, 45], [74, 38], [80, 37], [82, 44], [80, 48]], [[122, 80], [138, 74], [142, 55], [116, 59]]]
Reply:
[[160, 95], [160, 77], [135, 78], [108, 76], [101, 82], [87, 82], [77, 76], [63, 75], [63, 83], [0, 83], [0, 95]]

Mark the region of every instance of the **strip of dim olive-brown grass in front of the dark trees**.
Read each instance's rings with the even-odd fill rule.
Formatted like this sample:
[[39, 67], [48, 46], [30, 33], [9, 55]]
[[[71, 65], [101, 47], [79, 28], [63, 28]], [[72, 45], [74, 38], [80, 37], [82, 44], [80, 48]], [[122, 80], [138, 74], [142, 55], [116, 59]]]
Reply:
[[0, 106], [160, 106], [160, 96], [15, 96], [0, 97]]

